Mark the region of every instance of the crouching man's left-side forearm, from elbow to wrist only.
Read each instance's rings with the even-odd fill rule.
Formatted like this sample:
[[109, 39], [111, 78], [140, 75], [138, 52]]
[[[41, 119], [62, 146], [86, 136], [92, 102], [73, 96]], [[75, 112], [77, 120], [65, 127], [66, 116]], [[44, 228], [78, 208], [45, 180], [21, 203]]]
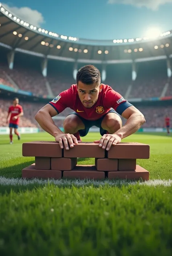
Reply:
[[35, 120], [39, 123], [42, 129], [44, 129], [44, 131], [53, 137], [56, 137], [57, 134], [62, 133], [62, 131], [54, 124], [54, 121], [48, 112], [39, 111], [35, 115]]

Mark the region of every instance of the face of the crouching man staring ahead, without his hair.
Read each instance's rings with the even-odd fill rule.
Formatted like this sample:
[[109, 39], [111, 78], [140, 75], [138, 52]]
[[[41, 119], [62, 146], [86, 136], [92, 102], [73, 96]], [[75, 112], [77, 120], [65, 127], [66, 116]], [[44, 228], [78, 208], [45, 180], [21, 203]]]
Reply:
[[78, 95], [82, 104], [86, 108], [90, 108], [97, 101], [99, 93], [102, 91], [102, 85], [91, 84], [86, 85], [78, 81]]

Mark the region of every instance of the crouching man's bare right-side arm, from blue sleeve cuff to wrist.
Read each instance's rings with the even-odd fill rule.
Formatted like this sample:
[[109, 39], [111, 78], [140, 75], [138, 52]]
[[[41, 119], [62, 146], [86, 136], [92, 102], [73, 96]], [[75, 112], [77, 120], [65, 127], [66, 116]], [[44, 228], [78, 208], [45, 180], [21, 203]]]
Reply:
[[144, 115], [134, 106], [128, 107], [123, 111], [122, 117], [127, 119], [126, 124], [115, 132], [121, 139], [130, 136], [139, 130], [139, 128], [146, 122]]

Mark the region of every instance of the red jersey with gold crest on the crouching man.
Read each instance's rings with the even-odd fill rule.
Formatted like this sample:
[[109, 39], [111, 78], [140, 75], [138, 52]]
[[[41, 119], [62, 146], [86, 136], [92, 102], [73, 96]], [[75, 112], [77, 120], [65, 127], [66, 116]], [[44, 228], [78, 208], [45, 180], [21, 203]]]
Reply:
[[105, 115], [111, 108], [118, 114], [122, 114], [125, 109], [132, 106], [119, 93], [115, 92], [109, 85], [102, 84], [102, 91], [99, 93], [97, 102], [90, 108], [86, 108], [79, 99], [77, 85], [61, 92], [56, 98], [49, 102], [60, 114], [69, 107], [87, 120], [97, 120]]

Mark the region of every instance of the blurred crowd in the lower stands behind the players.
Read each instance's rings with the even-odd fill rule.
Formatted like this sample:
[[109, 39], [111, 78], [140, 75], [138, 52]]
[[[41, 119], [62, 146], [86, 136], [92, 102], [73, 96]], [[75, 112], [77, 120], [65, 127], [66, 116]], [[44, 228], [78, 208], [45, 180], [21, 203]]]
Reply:
[[[12, 104], [12, 101], [7, 101], [0, 99], [0, 126], [8, 126], [7, 125], [7, 115], [8, 115], [8, 107]], [[30, 102], [19, 102], [19, 104], [23, 107], [24, 116], [20, 118], [20, 126], [21, 127], [38, 127], [37, 121], [34, 119], [35, 114], [42, 106], [43, 103], [30, 103]], [[167, 114], [172, 120], [172, 106], [170, 107], [138, 107], [138, 109], [144, 114], [146, 119], [146, 123], [142, 127], [165, 127], [165, 114]], [[66, 117], [67, 114], [71, 113], [73, 110], [67, 108], [58, 116]], [[122, 118], [123, 125], [126, 123], [126, 119]], [[63, 126], [64, 118], [59, 120], [54, 120], [57, 126]]]

